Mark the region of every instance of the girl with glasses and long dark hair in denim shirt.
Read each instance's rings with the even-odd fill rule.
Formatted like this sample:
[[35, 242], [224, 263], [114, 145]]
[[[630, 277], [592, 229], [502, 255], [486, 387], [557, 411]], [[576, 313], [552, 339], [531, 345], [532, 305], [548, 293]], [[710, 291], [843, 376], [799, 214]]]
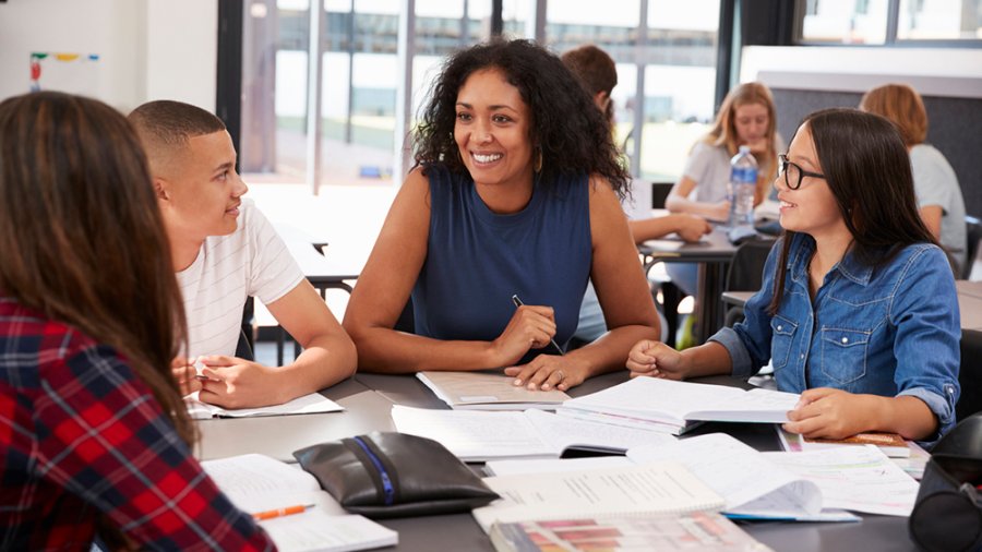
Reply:
[[934, 441], [955, 423], [958, 299], [918, 215], [900, 135], [878, 116], [829, 109], [798, 129], [775, 180], [785, 237], [746, 320], [682, 352], [644, 340], [632, 376], [747, 377], [771, 361], [801, 393], [785, 429]]

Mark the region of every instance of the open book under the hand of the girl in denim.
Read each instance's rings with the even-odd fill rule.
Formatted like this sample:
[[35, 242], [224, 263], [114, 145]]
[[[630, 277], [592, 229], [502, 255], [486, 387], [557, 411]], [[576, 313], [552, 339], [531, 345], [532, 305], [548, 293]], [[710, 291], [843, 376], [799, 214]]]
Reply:
[[635, 377], [563, 403], [556, 413], [680, 434], [700, 421], [788, 421], [799, 395], [724, 385]]

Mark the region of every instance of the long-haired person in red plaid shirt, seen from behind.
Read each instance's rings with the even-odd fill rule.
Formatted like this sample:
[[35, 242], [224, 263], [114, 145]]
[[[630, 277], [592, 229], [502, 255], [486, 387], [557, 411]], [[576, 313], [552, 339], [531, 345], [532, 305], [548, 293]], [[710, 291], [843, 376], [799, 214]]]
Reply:
[[127, 120], [0, 104], [0, 549], [272, 550], [191, 454], [180, 292]]

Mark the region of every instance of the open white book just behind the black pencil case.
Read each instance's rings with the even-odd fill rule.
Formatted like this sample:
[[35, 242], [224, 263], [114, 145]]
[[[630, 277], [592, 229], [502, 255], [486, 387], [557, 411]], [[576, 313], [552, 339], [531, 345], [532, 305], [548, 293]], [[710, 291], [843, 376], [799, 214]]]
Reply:
[[564, 451], [623, 454], [674, 437], [654, 431], [575, 420], [541, 410], [467, 411], [392, 407], [399, 433], [432, 439], [464, 461], [558, 458]]

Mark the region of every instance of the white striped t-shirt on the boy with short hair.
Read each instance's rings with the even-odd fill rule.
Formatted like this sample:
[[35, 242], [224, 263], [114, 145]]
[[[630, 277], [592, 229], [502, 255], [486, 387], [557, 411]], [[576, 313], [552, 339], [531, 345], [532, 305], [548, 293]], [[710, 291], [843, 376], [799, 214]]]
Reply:
[[270, 304], [291, 291], [303, 273], [250, 200], [228, 236], [205, 239], [197, 259], [177, 274], [188, 316], [189, 358], [235, 355], [246, 298]]

